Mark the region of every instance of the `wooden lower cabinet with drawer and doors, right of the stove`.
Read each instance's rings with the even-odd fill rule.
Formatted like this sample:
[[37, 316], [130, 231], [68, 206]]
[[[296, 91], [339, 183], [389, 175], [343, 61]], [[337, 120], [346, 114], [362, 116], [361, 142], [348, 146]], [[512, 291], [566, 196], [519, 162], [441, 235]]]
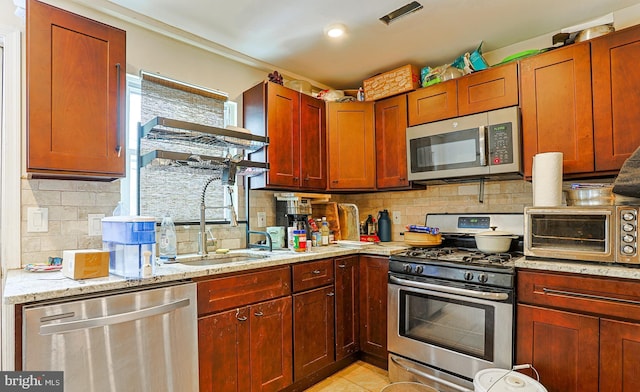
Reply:
[[640, 282], [518, 271], [516, 363], [549, 392], [638, 391]]

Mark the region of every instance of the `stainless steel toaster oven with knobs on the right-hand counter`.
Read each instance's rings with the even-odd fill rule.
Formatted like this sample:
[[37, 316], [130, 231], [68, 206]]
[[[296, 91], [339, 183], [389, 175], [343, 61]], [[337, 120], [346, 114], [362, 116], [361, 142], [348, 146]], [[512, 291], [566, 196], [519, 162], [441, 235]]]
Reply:
[[527, 257], [640, 264], [640, 207], [526, 207]]

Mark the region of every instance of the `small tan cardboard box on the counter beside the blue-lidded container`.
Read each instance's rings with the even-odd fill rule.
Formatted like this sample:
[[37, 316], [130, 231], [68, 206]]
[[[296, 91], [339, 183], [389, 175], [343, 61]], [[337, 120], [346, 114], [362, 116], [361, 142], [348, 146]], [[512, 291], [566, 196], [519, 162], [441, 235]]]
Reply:
[[109, 276], [109, 252], [98, 249], [62, 252], [62, 274], [71, 279]]

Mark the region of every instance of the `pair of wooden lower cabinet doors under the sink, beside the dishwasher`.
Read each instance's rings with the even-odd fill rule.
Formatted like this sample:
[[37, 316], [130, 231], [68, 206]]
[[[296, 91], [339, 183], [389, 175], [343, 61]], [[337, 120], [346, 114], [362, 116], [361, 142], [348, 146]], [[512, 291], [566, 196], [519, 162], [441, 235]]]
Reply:
[[200, 318], [200, 391], [279, 391], [290, 385], [291, 325], [291, 297]]

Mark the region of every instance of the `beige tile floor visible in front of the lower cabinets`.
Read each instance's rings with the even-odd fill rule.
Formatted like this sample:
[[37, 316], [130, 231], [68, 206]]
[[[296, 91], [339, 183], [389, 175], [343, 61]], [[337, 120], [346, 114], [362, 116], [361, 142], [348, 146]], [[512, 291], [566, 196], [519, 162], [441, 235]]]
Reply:
[[389, 384], [387, 371], [357, 361], [306, 389], [305, 392], [380, 392]]

